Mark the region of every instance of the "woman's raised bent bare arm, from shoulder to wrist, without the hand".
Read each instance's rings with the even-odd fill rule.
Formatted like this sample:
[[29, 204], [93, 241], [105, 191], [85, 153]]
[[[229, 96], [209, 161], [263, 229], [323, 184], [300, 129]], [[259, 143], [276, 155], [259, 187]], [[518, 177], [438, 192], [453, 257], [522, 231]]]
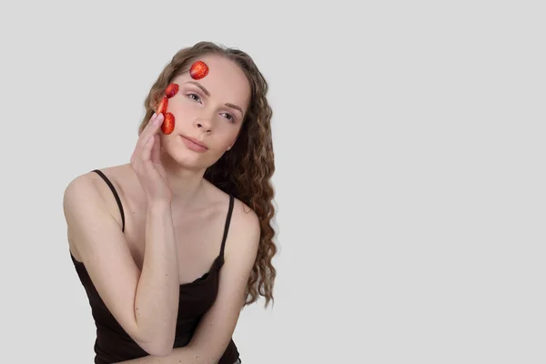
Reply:
[[95, 174], [76, 177], [64, 195], [68, 238], [117, 322], [148, 353], [173, 348], [178, 306], [177, 249], [170, 207], [148, 207], [142, 272], [106, 209]]

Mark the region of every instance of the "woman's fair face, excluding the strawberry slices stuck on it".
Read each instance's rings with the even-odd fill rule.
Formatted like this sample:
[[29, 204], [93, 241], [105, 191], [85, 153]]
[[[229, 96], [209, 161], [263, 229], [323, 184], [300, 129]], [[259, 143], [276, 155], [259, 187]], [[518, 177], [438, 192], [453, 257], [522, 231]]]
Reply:
[[187, 72], [172, 81], [179, 86], [167, 106], [175, 116], [174, 130], [169, 135], [159, 131], [161, 147], [191, 169], [212, 166], [233, 146], [250, 101], [247, 76], [235, 63], [221, 56], [198, 60], [208, 66], [207, 76], [194, 79]]

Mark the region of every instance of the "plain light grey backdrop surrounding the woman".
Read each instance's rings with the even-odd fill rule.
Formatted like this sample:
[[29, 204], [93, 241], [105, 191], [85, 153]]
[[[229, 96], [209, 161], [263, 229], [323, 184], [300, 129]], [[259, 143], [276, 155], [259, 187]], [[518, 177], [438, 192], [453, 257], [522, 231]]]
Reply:
[[178, 49], [270, 86], [273, 308], [245, 364], [543, 363], [541, 2], [27, 1], [0, 7], [0, 361], [91, 363], [62, 196], [126, 163]]

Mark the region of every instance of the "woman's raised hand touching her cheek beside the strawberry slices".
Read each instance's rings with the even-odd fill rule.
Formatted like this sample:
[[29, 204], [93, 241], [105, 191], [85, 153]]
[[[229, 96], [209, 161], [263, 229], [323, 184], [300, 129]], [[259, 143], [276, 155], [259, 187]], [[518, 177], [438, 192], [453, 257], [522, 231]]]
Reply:
[[157, 131], [163, 123], [163, 117], [163, 114], [154, 114], [150, 118], [131, 156], [131, 167], [144, 188], [148, 204], [170, 203], [173, 197], [160, 159], [161, 141]]

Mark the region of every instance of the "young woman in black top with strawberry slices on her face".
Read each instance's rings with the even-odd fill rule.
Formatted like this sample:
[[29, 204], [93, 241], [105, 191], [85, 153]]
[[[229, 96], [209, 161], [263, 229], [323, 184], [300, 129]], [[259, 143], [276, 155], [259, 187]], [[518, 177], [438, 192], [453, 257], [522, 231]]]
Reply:
[[241, 362], [241, 308], [273, 298], [268, 83], [246, 53], [200, 42], [158, 76], [130, 163], [66, 187], [95, 363]]

